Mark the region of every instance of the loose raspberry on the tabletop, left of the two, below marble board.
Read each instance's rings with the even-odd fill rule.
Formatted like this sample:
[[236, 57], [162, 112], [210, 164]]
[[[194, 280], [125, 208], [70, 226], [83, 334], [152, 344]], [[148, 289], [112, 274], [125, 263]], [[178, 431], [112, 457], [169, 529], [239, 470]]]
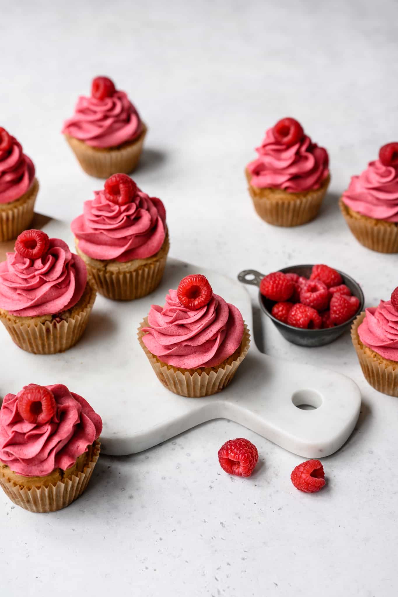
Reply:
[[258, 451], [248, 439], [229, 439], [218, 450], [221, 469], [229, 475], [249, 477], [257, 464]]

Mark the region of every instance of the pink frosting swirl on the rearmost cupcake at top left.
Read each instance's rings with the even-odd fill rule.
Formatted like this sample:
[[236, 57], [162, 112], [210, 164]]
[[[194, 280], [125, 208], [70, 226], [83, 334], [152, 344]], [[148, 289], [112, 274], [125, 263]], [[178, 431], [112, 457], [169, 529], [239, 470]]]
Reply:
[[124, 91], [97, 100], [81, 96], [75, 114], [64, 122], [62, 132], [92, 147], [115, 147], [133, 141], [143, 125]]

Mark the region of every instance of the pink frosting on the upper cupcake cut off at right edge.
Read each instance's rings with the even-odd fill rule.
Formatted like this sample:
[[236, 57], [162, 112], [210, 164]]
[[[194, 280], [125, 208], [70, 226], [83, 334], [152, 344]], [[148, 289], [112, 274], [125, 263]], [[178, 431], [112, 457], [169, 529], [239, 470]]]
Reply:
[[369, 162], [360, 176], [351, 177], [342, 196], [345, 205], [363, 216], [398, 222], [398, 168]]

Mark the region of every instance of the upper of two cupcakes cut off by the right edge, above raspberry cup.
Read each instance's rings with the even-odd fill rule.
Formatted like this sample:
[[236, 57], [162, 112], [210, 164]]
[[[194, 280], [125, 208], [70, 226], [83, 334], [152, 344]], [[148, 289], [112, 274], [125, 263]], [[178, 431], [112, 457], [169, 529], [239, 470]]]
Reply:
[[382, 146], [379, 159], [351, 178], [340, 209], [360, 244], [398, 253], [398, 142]]

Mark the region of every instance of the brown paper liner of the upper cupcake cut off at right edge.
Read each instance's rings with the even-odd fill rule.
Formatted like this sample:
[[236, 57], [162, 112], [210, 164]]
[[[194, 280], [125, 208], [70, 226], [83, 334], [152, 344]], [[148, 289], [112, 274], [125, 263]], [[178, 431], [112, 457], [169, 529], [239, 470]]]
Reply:
[[379, 253], [398, 253], [398, 224], [362, 216], [347, 207], [341, 198], [339, 206], [348, 227], [361, 245]]

